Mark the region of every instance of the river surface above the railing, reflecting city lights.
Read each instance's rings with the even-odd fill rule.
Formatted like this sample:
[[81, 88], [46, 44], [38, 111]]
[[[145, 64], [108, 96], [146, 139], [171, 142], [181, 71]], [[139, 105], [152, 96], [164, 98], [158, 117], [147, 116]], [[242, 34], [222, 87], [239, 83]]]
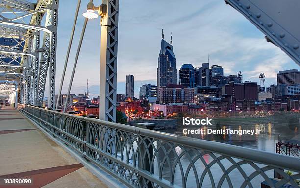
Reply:
[[[214, 118], [213, 125], [209, 126], [182, 126], [178, 121], [179, 128], [173, 130], [162, 130], [163, 132], [176, 135], [183, 135], [209, 141], [218, 141], [222, 143], [261, 149], [269, 152], [275, 152], [275, 144], [278, 140], [282, 142], [291, 142], [300, 144], [299, 127], [300, 114], [298, 113], [277, 113], [268, 117], [227, 117]], [[183, 134], [183, 129], [192, 130], [203, 129], [202, 134]], [[207, 134], [207, 129], [259, 129], [260, 134], [236, 135], [236, 134]], [[261, 145], [263, 144], [263, 145]]]

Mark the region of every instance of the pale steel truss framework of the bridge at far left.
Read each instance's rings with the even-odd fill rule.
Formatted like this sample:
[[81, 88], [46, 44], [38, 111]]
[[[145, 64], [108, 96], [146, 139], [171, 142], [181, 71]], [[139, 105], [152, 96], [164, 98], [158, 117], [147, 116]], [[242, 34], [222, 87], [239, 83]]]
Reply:
[[0, 0], [0, 36], [15, 42], [0, 46], [0, 80], [18, 81], [24, 104], [42, 106], [49, 69], [48, 104], [55, 108], [58, 1]]

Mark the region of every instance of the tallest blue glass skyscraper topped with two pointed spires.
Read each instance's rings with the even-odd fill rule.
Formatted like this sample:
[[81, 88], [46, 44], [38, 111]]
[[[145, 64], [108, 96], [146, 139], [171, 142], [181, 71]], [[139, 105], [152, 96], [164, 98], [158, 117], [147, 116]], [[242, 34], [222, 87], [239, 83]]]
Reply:
[[162, 30], [161, 48], [157, 66], [157, 89], [165, 88], [167, 84], [177, 84], [177, 62], [173, 52], [172, 36], [171, 44], [164, 40]]

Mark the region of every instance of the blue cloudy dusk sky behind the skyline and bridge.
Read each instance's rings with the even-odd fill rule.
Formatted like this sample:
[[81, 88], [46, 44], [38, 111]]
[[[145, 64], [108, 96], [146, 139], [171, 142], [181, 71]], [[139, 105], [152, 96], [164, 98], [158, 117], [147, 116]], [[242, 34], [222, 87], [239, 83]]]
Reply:
[[[67, 92], [88, 0], [82, 0], [62, 93]], [[101, 0], [94, 0], [95, 6]], [[56, 93], [74, 20], [76, 0], [60, 0], [56, 63]], [[134, 95], [143, 84], [156, 84], [161, 29], [169, 42], [173, 35], [179, 71], [182, 64], [224, 67], [224, 75], [243, 72], [243, 80], [266, 87], [276, 84], [276, 73], [299, 69], [283, 51], [266, 42], [264, 35], [224, 0], [120, 0], [117, 94], [125, 94], [125, 76], [134, 75]], [[99, 96], [100, 18], [89, 20], [81, 47], [71, 93], [84, 94], [88, 79], [90, 96]], [[48, 94], [46, 86], [45, 96]]]

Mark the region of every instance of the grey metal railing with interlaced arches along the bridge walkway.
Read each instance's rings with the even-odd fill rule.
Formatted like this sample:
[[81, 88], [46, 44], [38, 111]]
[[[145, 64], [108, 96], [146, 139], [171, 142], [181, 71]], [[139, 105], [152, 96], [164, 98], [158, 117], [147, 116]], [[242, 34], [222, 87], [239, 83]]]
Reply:
[[[259, 188], [263, 181], [299, 187], [299, 158], [23, 104], [18, 109], [128, 187]], [[281, 179], [274, 181], [275, 174]]]

